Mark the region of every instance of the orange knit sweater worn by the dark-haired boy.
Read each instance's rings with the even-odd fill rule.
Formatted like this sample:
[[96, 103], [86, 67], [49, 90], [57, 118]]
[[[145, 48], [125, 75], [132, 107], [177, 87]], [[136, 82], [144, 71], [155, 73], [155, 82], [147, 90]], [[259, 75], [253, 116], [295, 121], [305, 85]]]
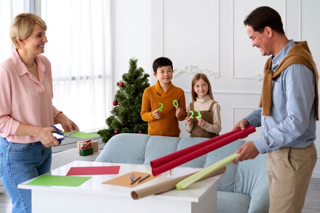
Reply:
[[[179, 107], [183, 110], [179, 117], [175, 116], [174, 100], [178, 101]], [[162, 111], [160, 111], [161, 118], [155, 119], [152, 112], [161, 107], [159, 103], [163, 104]], [[142, 98], [141, 117], [142, 120], [148, 122], [149, 135], [179, 137], [178, 121], [184, 121], [186, 116], [185, 92], [181, 88], [170, 82], [167, 91], [164, 92], [159, 81], [157, 81], [155, 85], [145, 89]]]

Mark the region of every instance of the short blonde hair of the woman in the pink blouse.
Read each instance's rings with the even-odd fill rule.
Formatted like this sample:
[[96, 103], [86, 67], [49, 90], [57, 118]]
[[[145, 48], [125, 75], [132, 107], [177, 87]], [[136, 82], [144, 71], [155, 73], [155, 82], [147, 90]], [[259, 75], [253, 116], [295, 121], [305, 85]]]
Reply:
[[35, 24], [40, 25], [43, 30], [47, 30], [47, 25], [39, 16], [32, 13], [20, 13], [16, 15], [10, 26], [10, 38], [14, 48], [20, 47], [17, 39], [26, 39], [33, 31]]

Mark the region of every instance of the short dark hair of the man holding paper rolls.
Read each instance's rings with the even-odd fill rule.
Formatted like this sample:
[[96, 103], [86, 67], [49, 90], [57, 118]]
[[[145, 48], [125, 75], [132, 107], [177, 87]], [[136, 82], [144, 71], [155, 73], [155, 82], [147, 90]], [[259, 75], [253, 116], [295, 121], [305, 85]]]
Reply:
[[254, 31], [259, 33], [262, 33], [265, 27], [270, 27], [277, 33], [285, 34], [281, 16], [276, 10], [270, 7], [258, 7], [246, 17], [243, 23], [245, 26], [250, 26]]

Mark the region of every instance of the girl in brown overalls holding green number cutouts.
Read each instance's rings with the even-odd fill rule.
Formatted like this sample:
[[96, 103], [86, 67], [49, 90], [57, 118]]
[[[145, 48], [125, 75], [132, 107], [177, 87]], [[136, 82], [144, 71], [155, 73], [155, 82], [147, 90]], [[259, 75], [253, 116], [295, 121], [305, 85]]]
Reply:
[[221, 131], [220, 106], [214, 101], [205, 74], [196, 74], [191, 83], [192, 101], [187, 108], [186, 131], [190, 137], [218, 136]]

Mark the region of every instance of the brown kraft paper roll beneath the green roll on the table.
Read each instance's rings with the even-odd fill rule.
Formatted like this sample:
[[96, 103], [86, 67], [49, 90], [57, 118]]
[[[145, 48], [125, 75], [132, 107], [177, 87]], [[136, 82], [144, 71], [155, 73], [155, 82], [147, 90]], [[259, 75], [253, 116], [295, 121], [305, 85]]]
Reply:
[[[212, 176], [224, 173], [225, 170], [226, 170], [226, 167], [223, 167], [220, 170], [215, 171], [212, 174], [209, 174], [208, 176], [205, 176], [202, 179], [205, 179], [205, 178], [208, 178], [208, 177], [212, 177]], [[185, 178], [187, 178], [187, 177], [189, 177], [189, 176], [191, 176], [193, 174], [195, 174], [195, 173], [191, 173], [191, 174], [184, 175], [184, 176], [181, 176], [181, 177], [176, 177], [176, 178], [168, 178], [168, 180], [165, 180], [165, 181], [163, 181], [161, 183], [156, 183], [154, 185], [150, 185], [150, 186], [147, 186], [147, 187], [144, 187], [144, 188], [140, 188], [139, 190], [132, 191], [131, 192], [131, 197], [134, 200], [138, 200], [138, 199], [150, 196], [150, 195], [155, 195], [155, 194], [159, 194], [159, 193], [163, 193], [163, 192], [167, 192], [167, 191], [173, 190], [175, 188], [175, 185], [179, 181], [184, 180]]]

